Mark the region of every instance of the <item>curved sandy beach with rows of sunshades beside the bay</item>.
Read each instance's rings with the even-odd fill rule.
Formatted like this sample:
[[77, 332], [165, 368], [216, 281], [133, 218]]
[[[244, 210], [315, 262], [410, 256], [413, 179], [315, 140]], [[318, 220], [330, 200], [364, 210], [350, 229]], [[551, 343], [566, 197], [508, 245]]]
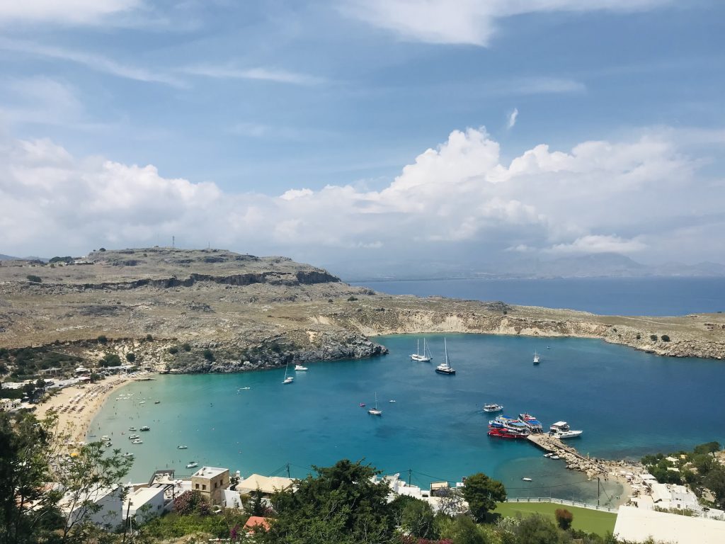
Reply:
[[43, 417], [51, 409], [58, 414], [58, 429], [60, 432], [70, 434], [70, 440], [81, 442], [86, 440], [88, 427], [96, 413], [101, 409], [109, 395], [134, 379], [142, 377], [141, 374], [134, 376], [112, 376], [95, 384], [82, 384], [66, 387], [57, 395], [39, 404], [36, 409], [38, 419]]

